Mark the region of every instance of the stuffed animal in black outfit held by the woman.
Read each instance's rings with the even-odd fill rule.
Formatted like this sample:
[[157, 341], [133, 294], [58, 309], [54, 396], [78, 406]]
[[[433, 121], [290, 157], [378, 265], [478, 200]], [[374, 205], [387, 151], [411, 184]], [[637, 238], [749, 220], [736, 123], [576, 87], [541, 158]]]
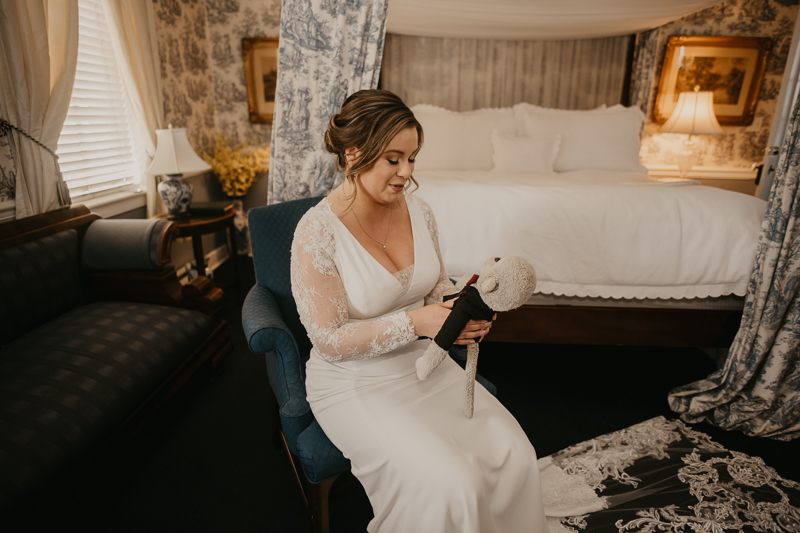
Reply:
[[[456, 283], [459, 292], [446, 296], [457, 298], [453, 310], [428, 349], [417, 359], [417, 377], [426, 380], [444, 361], [448, 350], [470, 320], [491, 320], [496, 312], [510, 311], [524, 304], [536, 288], [536, 271], [522, 257], [490, 257], [481, 267], [480, 276], [463, 276]], [[475, 374], [478, 369], [478, 343], [467, 345], [466, 407], [472, 418], [475, 397]]]

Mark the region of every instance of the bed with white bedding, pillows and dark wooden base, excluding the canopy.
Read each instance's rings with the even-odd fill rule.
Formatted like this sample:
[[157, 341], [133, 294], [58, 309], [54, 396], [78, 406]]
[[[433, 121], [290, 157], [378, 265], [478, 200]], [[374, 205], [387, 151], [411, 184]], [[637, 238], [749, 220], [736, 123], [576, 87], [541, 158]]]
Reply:
[[436, 213], [448, 275], [491, 255], [537, 269], [537, 293], [491, 340], [730, 344], [763, 200], [649, 179], [638, 108], [413, 110], [425, 131], [416, 194]]

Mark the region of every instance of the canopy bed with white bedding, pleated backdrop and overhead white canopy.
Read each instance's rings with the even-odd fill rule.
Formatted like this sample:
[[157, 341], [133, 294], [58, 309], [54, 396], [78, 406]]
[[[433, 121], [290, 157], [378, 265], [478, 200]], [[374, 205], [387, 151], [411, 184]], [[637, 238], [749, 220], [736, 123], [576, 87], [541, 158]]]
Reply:
[[[529, 305], [502, 315], [490, 340], [731, 344], [766, 204], [648, 180], [643, 113], [602, 105], [646, 110], [651, 87], [632, 70], [654, 60], [648, 30], [717, 3], [390, 4], [381, 86], [425, 128], [417, 194], [436, 213], [448, 274], [516, 253], [540, 275]], [[443, 69], [436, 87], [423, 81], [432, 68]], [[521, 146], [522, 137], [537, 140]], [[537, 168], [548, 155], [552, 165]]]

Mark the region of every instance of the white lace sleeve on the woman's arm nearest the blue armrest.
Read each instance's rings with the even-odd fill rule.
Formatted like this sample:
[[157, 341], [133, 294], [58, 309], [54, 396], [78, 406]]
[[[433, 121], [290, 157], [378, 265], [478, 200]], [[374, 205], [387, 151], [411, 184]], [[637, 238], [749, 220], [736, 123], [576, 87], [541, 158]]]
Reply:
[[405, 312], [349, 322], [347, 295], [333, 261], [333, 229], [326, 215], [316, 208], [309, 211], [292, 242], [292, 295], [319, 354], [331, 362], [369, 359], [416, 340]]

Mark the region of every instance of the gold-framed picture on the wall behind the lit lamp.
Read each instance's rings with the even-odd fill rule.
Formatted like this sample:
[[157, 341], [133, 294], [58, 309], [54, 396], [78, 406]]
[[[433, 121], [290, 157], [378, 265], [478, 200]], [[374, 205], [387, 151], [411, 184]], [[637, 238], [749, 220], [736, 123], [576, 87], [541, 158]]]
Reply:
[[714, 112], [723, 126], [747, 126], [755, 116], [772, 39], [673, 35], [667, 42], [658, 84], [655, 121], [667, 121], [678, 96], [699, 85], [713, 91]]

